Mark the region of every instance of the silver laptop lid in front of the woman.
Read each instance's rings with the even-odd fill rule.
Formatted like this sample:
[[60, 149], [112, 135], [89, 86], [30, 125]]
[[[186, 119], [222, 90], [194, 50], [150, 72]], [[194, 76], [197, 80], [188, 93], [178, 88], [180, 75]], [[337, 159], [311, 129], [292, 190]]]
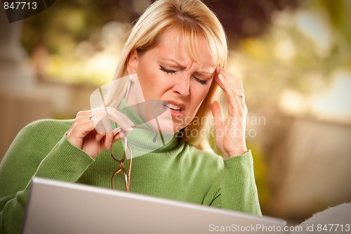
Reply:
[[282, 219], [34, 177], [22, 233], [282, 233], [285, 226]]

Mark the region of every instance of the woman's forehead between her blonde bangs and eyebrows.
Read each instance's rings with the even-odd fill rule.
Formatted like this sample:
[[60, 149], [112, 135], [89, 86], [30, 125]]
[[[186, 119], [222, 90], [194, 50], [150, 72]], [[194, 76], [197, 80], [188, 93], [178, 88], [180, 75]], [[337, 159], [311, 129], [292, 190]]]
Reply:
[[201, 67], [216, 67], [208, 43], [201, 34], [197, 37], [183, 34], [178, 28], [166, 30], [154, 46], [159, 56], [180, 62], [197, 62]]

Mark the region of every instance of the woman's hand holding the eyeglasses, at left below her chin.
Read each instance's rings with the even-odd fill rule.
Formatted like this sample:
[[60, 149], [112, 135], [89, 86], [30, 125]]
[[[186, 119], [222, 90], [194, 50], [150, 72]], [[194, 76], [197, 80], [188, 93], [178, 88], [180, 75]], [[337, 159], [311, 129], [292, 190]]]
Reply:
[[[112, 129], [111, 121], [120, 128]], [[130, 132], [132, 126], [133, 122], [114, 108], [80, 111], [67, 131], [67, 140], [95, 159], [102, 150], [110, 148], [112, 143], [119, 141], [124, 132]], [[120, 131], [121, 129], [124, 131]]]

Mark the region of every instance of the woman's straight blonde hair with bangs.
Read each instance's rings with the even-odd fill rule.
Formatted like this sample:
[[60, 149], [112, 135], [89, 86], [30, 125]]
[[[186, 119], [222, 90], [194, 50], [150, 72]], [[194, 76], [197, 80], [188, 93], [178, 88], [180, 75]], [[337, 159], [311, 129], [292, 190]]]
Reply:
[[[216, 15], [200, 0], [158, 0], [149, 6], [134, 25], [122, 51], [115, 77], [127, 75], [126, 65], [131, 51], [147, 51], [157, 44], [162, 33], [171, 27], [178, 27], [183, 32], [187, 51], [194, 60], [197, 58], [197, 37], [203, 36], [217, 67], [225, 67], [227, 63], [227, 38], [223, 26]], [[111, 105], [119, 103], [128, 89], [128, 84], [119, 84], [114, 93]], [[194, 119], [183, 131], [192, 132], [197, 136], [183, 134], [183, 140], [202, 150], [211, 150], [207, 137], [210, 126], [206, 119], [210, 117], [211, 103], [217, 98], [218, 85], [212, 82], [206, 98], [201, 103]], [[204, 118], [205, 117], [205, 118]], [[207, 137], [204, 137], [207, 136]]]

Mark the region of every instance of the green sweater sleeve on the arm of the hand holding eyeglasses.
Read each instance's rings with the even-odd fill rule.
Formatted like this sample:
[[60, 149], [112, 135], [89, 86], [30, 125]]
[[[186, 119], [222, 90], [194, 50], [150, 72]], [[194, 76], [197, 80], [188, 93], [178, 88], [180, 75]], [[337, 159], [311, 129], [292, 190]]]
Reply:
[[74, 182], [93, 163], [65, 134], [53, 144], [41, 129], [22, 129], [0, 164], [0, 233], [20, 233], [32, 176]]

